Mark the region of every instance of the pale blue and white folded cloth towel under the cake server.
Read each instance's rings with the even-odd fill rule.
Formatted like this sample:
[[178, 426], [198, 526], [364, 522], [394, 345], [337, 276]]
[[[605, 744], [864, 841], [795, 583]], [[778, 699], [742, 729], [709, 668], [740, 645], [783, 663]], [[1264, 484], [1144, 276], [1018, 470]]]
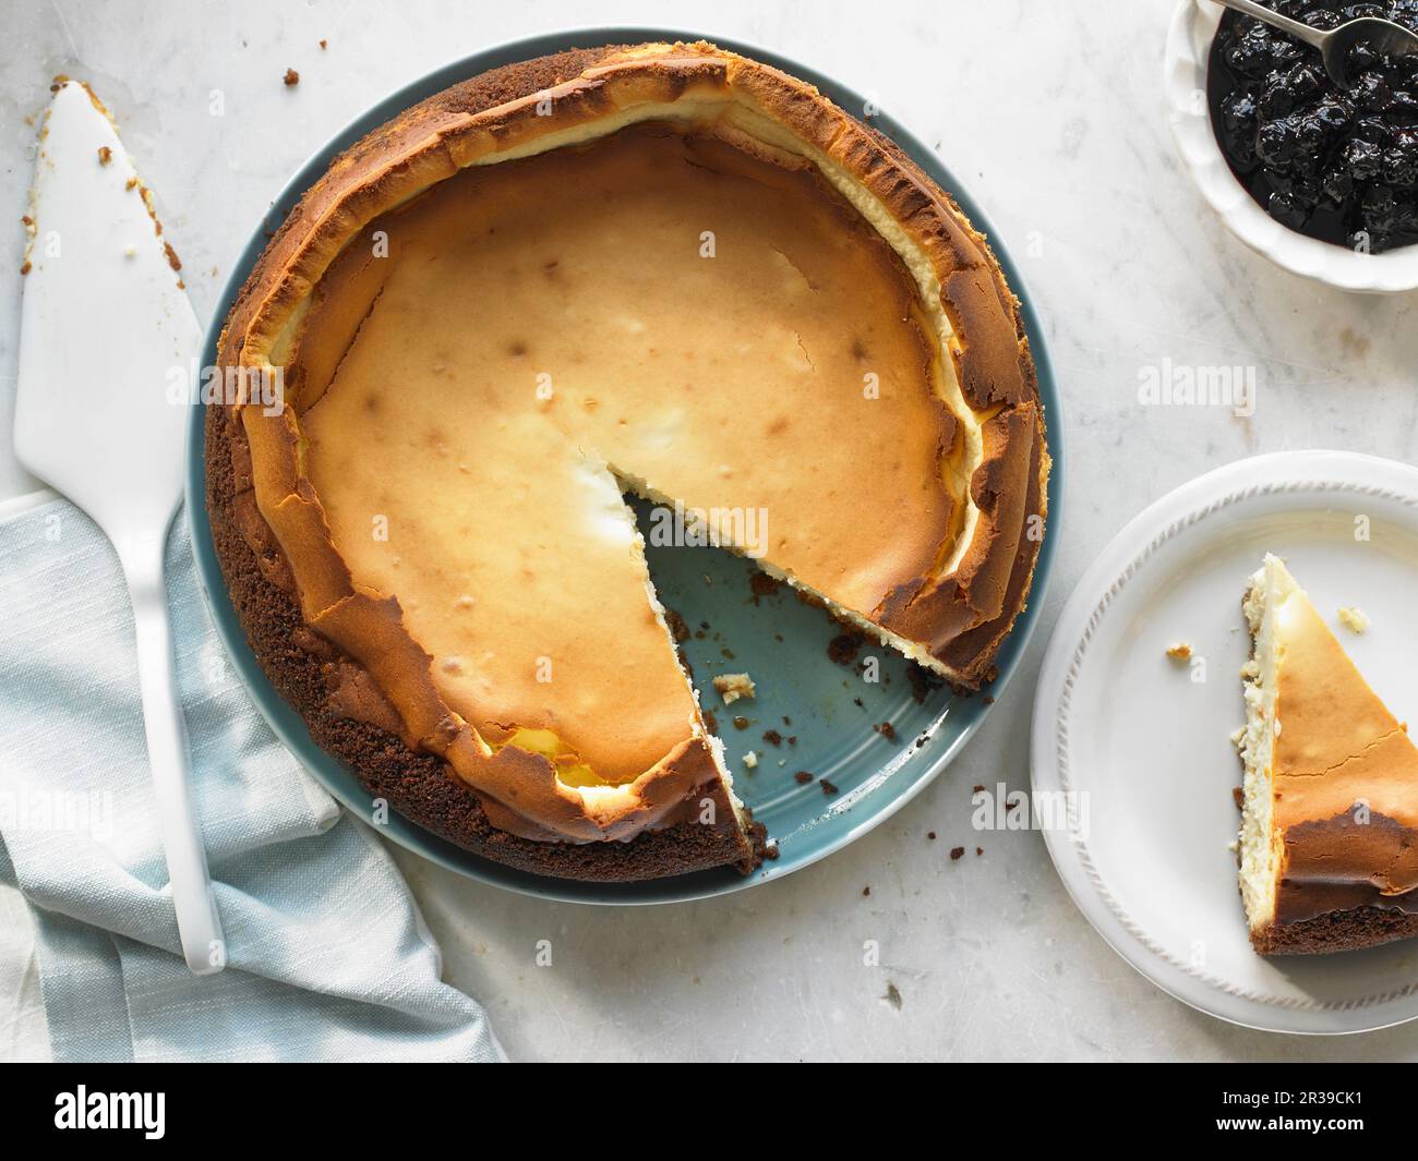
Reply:
[[225, 659], [179, 519], [177, 683], [227, 970], [183, 964], [118, 557], [51, 499], [0, 517], [0, 877], [34, 914], [57, 1060], [498, 1060], [374, 834]]

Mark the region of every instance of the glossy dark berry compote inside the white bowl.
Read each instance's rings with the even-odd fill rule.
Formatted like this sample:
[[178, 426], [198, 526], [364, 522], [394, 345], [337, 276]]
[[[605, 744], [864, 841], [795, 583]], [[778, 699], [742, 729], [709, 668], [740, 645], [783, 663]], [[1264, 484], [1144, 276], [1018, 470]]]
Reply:
[[[1373, 4], [1271, 0], [1316, 28], [1381, 16], [1418, 31], [1418, 0]], [[1378, 254], [1418, 242], [1418, 55], [1367, 44], [1337, 88], [1320, 54], [1228, 11], [1211, 45], [1211, 125], [1231, 170], [1276, 221]]]

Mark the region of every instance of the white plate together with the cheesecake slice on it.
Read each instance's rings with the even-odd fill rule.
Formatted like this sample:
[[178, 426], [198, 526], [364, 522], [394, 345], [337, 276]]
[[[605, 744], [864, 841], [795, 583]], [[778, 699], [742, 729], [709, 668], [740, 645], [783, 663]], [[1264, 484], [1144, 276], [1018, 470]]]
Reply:
[[1163, 496], [1065, 604], [1029, 815], [1171, 995], [1282, 1032], [1418, 1016], [1415, 585], [1418, 469], [1305, 451]]

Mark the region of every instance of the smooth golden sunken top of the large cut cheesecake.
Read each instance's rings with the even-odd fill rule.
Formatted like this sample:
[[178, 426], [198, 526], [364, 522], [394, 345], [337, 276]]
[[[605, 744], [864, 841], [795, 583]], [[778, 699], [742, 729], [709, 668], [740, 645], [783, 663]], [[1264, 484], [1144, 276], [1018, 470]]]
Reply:
[[913, 284], [811, 173], [647, 126], [467, 170], [374, 232], [389, 255], [346, 251], [306, 327], [363, 318], [302, 383], [306, 471], [484, 737], [553, 730], [620, 783], [692, 727], [607, 464], [752, 513], [726, 537], [849, 608], [949, 540], [954, 421]]

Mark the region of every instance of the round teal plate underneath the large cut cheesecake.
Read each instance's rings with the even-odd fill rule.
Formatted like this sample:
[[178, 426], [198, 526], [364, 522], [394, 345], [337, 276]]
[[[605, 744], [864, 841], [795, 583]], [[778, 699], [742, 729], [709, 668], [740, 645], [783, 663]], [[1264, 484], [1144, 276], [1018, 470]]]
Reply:
[[[284, 211], [289, 210], [319, 179], [336, 153], [370, 129], [425, 96], [512, 61], [530, 60], [577, 45], [700, 38], [713, 40], [725, 48], [756, 57], [801, 77], [849, 112], [859, 113], [866, 108], [861, 95], [797, 61], [754, 45], [683, 30], [591, 28], [533, 37], [475, 52], [374, 105], [325, 145], [291, 179], [277, 197], [267, 220], [251, 231], [241, 259], [231, 271], [221, 306], [207, 332], [203, 366], [213, 366], [217, 360], [217, 337], [227, 306], [265, 248], [267, 231], [277, 228]], [[1058, 513], [1062, 510], [1064, 476], [1059, 432], [1064, 417], [1058, 387], [1044, 346], [1044, 329], [1029, 306], [1024, 281], [986, 214], [936, 155], [903, 126], [885, 113], [876, 113], [871, 120], [956, 196], [966, 214], [990, 235], [1010, 284], [1024, 299], [1024, 322], [1038, 366], [1039, 394], [1049, 427], [1049, 452], [1054, 456], [1054, 475], [1049, 481], [1049, 512], [1054, 515], [1035, 570], [1029, 608], [1018, 619], [1000, 652], [1000, 676], [993, 686], [993, 693], [998, 695], [1010, 680], [1038, 619], [1054, 563], [1054, 547], [1059, 537]], [[299, 716], [267, 680], [247, 645], [211, 544], [211, 529], [203, 503], [206, 493], [203, 445], [203, 417], [200, 410], [194, 410], [187, 444], [187, 517], [197, 553], [197, 571], [217, 629], [247, 689], [281, 740], [330, 794], [359, 817], [369, 818], [370, 795], [345, 767], [315, 744]], [[837, 636], [837, 628], [827, 615], [801, 604], [786, 590], [776, 595], [754, 598], [749, 587], [752, 567], [747, 561], [713, 549], [693, 547], [658, 550], [652, 547], [648, 556], [661, 598], [676, 610], [693, 631], [693, 636], [686, 642], [686, 652], [700, 689], [706, 690], [705, 706], [713, 709], [719, 717], [719, 730], [727, 746], [729, 765], [735, 774], [735, 787], [753, 808], [753, 817], [767, 826], [769, 835], [777, 842], [778, 858], [766, 862], [760, 870], [749, 876], [725, 869], [649, 883], [574, 883], [525, 875], [488, 862], [397, 815], [384, 828], [390, 838], [471, 879], [545, 899], [586, 903], [666, 903], [725, 894], [804, 868], [889, 818], [960, 753], [990, 712], [990, 703], [984, 697], [957, 697], [947, 689], [934, 689], [923, 699], [917, 699], [906, 675], [906, 663], [881, 648], [864, 649], [852, 665], [831, 659], [828, 644]], [[866, 656], [879, 658], [881, 680], [876, 683], [864, 680], [855, 668]], [[733, 707], [742, 710], [746, 719], [742, 729], [735, 723], [733, 713], [718, 705], [719, 699], [709, 685], [715, 673], [739, 671], [752, 673], [759, 688], [756, 700], [739, 702]], [[891, 731], [873, 729], [883, 722], [891, 723]], [[764, 740], [769, 731], [776, 731], [780, 739], [777, 744]], [[893, 740], [889, 733], [895, 733]], [[759, 764], [752, 771], [742, 761], [747, 750], [759, 754]], [[800, 784], [794, 777], [798, 771], [808, 771], [814, 775], [814, 781]], [[822, 778], [837, 788], [835, 794], [824, 791], [817, 781]]]

